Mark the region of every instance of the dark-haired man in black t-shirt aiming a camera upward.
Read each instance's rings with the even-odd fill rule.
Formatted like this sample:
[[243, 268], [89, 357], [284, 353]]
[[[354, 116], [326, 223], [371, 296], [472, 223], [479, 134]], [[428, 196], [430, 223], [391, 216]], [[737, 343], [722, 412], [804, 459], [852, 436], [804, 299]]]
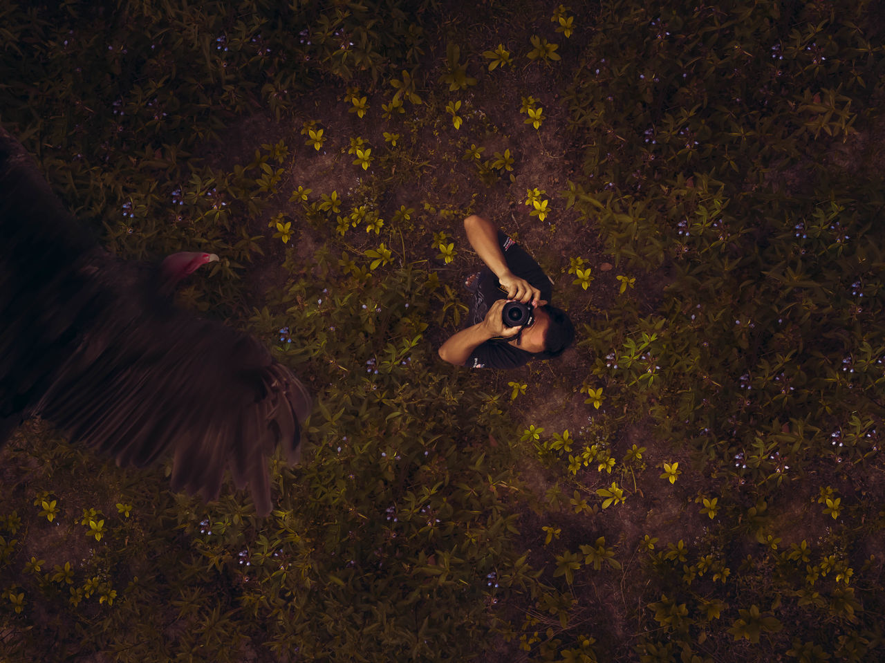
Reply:
[[566, 312], [548, 304], [552, 281], [489, 220], [473, 214], [464, 228], [486, 269], [465, 284], [476, 297], [467, 319], [471, 326], [443, 343], [440, 357], [472, 368], [517, 368], [558, 357], [572, 343], [574, 328]]

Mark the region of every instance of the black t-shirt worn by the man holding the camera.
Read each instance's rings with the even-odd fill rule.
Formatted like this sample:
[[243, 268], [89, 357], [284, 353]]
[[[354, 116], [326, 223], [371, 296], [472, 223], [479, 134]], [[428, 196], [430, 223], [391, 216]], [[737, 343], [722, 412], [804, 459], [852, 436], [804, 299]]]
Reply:
[[[504, 260], [513, 274], [525, 279], [535, 288], [541, 290], [541, 299], [550, 302], [553, 286], [547, 274], [525, 249], [510, 237], [498, 230], [498, 244], [504, 252]], [[507, 293], [498, 288], [497, 277], [488, 267], [480, 273], [477, 281], [476, 294], [470, 313], [467, 315], [467, 326], [479, 324], [485, 320], [489, 306], [498, 299], [505, 299]], [[466, 366], [471, 368], [518, 368], [536, 357], [535, 353], [520, 350], [504, 340], [490, 340], [477, 345], [473, 354], [467, 358]]]

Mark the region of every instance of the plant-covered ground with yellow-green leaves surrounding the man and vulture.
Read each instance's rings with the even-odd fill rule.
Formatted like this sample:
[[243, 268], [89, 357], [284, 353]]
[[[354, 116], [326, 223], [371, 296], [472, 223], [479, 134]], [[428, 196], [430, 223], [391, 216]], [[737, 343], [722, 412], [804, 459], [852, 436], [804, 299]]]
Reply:
[[[844, 5], [0, 5], [4, 127], [109, 250], [222, 256], [182, 304], [317, 395], [265, 520], [19, 430], [0, 656], [881, 656], [885, 7]], [[435, 357], [470, 212], [576, 349]]]

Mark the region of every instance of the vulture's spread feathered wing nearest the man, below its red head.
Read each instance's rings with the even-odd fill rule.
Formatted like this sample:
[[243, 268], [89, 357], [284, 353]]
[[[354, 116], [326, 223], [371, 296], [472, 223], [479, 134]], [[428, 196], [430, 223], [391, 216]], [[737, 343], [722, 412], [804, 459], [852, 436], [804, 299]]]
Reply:
[[296, 461], [310, 405], [255, 339], [170, 307], [89, 330], [35, 412], [120, 466], [173, 450], [173, 490], [215, 499], [229, 468], [265, 515], [267, 457], [281, 444]]

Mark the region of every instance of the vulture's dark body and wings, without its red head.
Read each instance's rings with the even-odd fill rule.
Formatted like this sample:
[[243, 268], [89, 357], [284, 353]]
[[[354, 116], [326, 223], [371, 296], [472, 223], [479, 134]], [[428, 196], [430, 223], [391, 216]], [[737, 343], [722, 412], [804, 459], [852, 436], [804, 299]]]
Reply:
[[0, 129], [0, 432], [37, 414], [121, 466], [172, 451], [173, 490], [218, 497], [228, 468], [269, 513], [267, 457], [280, 444], [296, 460], [304, 385], [251, 336], [157, 297], [156, 272], [90, 245], [11, 141]]

